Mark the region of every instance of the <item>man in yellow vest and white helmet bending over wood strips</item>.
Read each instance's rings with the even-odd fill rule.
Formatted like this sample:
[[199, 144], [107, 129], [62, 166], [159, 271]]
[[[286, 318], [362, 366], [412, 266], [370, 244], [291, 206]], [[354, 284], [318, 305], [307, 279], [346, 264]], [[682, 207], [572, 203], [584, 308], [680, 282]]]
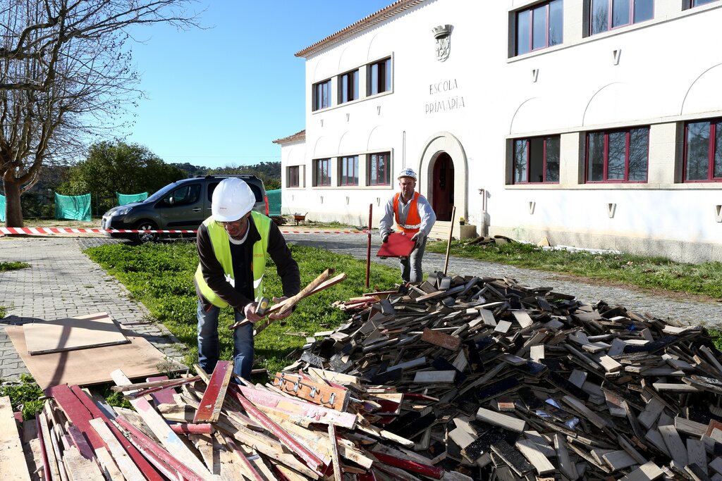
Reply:
[[[255, 203], [256, 195], [243, 180], [224, 179], [213, 191], [212, 215], [198, 229], [198, 362], [207, 373], [213, 371], [219, 358], [219, 310], [231, 306], [237, 322], [251, 321], [233, 332], [233, 372], [251, 379], [253, 322], [262, 318], [256, 314], [256, 304], [263, 296], [266, 252], [283, 284], [284, 297], [274, 301], [300, 291], [298, 264], [283, 234], [271, 219], [252, 210]], [[290, 313], [269, 317], [281, 319]]]

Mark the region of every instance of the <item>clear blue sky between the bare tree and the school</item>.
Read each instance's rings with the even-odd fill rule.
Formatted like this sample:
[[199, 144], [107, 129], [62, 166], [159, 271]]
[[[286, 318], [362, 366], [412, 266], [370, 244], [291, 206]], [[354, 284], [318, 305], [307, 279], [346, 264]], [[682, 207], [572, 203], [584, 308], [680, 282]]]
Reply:
[[126, 141], [165, 162], [279, 161], [272, 144], [305, 128], [305, 59], [295, 53], [393, 0], [201, 0], [206, 30], [157, 25], [131, 46], [147, 99]]

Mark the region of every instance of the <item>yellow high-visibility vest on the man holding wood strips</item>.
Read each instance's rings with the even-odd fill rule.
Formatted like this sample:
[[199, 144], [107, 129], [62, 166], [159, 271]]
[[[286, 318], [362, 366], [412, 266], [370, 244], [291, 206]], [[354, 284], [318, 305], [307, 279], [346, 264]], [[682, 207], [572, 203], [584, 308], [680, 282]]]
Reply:
[[[253, 260], [251, 261], [251, 269], [253, 270], [253, 295], [256, 296], [256, 301], [258, 301], [261, 299], [264, 291], [263, 279], [264, 273], [266, 272], [266, 252], [268, 251], [269, 229], [271, 229], [272, 221], [269, 217], [256, 211], [251, 211], [251, 216], [253, 217], [253, 224], [256, 224], [258, 234], [261, 235], [261, 239], [253, 244]], [[230, 241], [228, 240], [228, 234], [225, 228], [222, 224], [214, 221], [213, 217], [206, 219], [203, 224], [206, 226], [206, 229], [208, 229], [208, 236], [211, 239], [213, 253], [223, 268], [226, 280], [235, 280], [233, 261], [230, 255]], [[211, 304], [221, 308], [228, 305], [226, 301], [221, 299], [218, 294], [208, 286], [206, 280], [203, 278], [200, 264], [196, 269], [196, 283], [198, 283], [201, 294], [203, 294]]]

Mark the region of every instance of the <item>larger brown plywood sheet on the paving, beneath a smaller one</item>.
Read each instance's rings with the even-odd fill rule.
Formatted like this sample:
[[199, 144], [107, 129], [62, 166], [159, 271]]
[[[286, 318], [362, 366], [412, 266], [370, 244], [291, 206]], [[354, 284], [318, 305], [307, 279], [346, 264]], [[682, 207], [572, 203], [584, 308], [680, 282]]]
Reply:
[[58, 384], [87, 386], [111, 382], [110, 373], [116, 369], [122, 369], [131, 379], [188, 369], [181, 363], [169, 361], [144, 337], [134, 336], [127, 330], [122, 332], [131, 341], [128, 344], [66, 350], [43, 356], [30, 356], [27, 352], [22, 326], [6, 326], [5, 332], [27, 370], [43, 389]]

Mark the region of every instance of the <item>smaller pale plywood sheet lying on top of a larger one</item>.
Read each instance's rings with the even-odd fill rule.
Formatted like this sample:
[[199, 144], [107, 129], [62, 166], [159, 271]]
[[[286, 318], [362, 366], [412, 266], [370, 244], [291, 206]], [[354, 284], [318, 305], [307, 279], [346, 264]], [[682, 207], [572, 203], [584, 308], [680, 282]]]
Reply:
[[107, 312], [33, 322], [22, 327], [27, 352], [33, 356], [130, 342]]

